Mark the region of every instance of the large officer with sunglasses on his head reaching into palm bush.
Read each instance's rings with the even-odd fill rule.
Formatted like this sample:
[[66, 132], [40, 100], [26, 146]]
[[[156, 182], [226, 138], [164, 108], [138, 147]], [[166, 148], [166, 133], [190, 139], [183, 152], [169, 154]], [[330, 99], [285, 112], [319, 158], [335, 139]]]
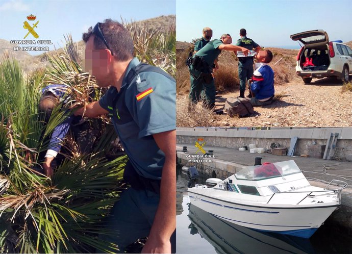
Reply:
[[104, 240], [124, 253], [126, 246], [147, 236], [142, 252], [170, 253], [176, 226], [175, 80], [133, 57], [131, 34], [119, 22], [97, 23], [83, 40], [87, 70], [98, 86], [111, 86], [85, 113], [82, 108], [75, 114], [109, 114], [129, 157], [123, 177], [131, 187], [121, 194], [108, 221], [116, 234]]

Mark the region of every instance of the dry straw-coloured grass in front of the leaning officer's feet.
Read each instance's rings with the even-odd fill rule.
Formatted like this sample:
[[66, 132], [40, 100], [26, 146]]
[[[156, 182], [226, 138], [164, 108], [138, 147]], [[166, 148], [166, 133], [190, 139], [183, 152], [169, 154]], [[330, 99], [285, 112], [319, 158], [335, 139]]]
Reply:
[[217, 119], [212, 110], [203, 108], [200, 103], [189, 104], [185, 97], [176, 100], [176, 124], [178, 127], [211, 126]]

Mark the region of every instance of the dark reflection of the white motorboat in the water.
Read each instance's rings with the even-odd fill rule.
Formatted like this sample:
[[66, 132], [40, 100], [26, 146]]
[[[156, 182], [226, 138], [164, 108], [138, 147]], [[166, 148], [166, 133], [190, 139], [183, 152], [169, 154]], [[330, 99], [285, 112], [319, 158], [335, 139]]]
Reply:
[[190, 234], [202, 236], [214, 246], [217, 253], [314, 252], [309, 240], [299, 241], [299, 245], [290, 238], [286, 238], [285, 242], [273, 235], [230, 224], [193, 205], [189, 206], [188, 217], [191, 221], [188, 226]]

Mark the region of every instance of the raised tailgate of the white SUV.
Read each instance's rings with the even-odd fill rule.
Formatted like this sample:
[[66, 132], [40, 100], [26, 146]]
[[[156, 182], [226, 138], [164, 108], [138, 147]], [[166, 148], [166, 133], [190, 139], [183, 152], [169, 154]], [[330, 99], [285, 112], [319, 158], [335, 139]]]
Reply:
[[329, 43], [329, 36], [324, 30], [311, 30], [290, 35], [294, 41], [300, 41], [305, 46], [317, 46]]

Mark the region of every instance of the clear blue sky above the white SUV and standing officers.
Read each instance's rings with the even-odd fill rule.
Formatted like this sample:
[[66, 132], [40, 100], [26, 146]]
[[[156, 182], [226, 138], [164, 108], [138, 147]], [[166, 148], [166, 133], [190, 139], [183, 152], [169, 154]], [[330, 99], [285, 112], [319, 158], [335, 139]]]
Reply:
[[298, 45], [291, 34], [322, 29], [330, 40], [352, 40], [348, 0], [177, 0], [177, 40], [190, 42], [213, 29], [213, 39], [229, 33], [235, 42], [239, 30], [261, 46]]

